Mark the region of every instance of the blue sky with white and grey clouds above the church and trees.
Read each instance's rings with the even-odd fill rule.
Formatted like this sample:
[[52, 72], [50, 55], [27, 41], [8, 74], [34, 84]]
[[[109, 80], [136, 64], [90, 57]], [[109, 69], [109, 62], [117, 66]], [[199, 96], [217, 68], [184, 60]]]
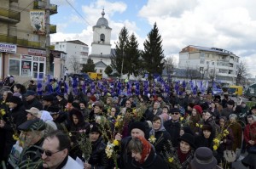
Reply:
[[[78, 13], [67, 3], [71, 3]], [[79, 39], [92, 42], [92, 26], [102, 16], [112, 28], [111, 43], [117, 42], [125, 25], [135, 33], [139, 48], [156, 22], [164, 53], [178, 61], [178, 52], [188, 45], [224, 48], [241, 57], [252, 77], [256, 76], [256, 0], [51, 0], [58, 14], [51, 42]]]

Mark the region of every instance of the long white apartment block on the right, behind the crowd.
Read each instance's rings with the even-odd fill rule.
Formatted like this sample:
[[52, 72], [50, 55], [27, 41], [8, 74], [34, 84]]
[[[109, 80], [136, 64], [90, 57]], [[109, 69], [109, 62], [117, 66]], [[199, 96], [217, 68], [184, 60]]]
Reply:
[[225, 86], [236, 83], [238, 66], [239, 57], [222, 48], [189, 45], [179, 52], [178, 68], [200, 70]]

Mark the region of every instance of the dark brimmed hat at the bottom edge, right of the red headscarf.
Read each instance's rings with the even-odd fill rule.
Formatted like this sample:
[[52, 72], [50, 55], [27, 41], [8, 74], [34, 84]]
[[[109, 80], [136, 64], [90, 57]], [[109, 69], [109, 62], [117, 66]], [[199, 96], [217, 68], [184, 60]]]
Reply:
[[190, 162], [192, 168], [212, 169], [217, 165], [217, 160], [212, 154], [212, 150], [207, 147], [200, 147], [195, 150], [195, 157]]

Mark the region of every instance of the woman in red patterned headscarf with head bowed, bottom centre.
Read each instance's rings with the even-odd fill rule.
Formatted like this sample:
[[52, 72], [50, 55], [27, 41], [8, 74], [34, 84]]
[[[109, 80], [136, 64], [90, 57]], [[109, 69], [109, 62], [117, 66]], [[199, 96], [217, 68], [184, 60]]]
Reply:
[[125, 169], [168, 168], [165, 161], [154, 152], [154, 147], [143, 137], [132, 138], [128, 144], [128, 151], [131, 152], [131, 155], [128, 156], [128, 163], [125, 165]]

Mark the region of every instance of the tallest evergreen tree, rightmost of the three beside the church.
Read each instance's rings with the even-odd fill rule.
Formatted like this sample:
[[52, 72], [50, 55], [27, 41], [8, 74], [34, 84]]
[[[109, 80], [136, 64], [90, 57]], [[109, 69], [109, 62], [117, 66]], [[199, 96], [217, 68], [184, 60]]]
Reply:
[[154, 23], [154, 28], [148, 33], [148, 40], [143, 43], [143, 67], [148, 71], [148, 79], [152, 79], [154, 73], [161, 75], [165, 68], [165, 63], [162, 61], [165, 55], [162, 49], [161, 36], [158, 31], [158, 27]]

